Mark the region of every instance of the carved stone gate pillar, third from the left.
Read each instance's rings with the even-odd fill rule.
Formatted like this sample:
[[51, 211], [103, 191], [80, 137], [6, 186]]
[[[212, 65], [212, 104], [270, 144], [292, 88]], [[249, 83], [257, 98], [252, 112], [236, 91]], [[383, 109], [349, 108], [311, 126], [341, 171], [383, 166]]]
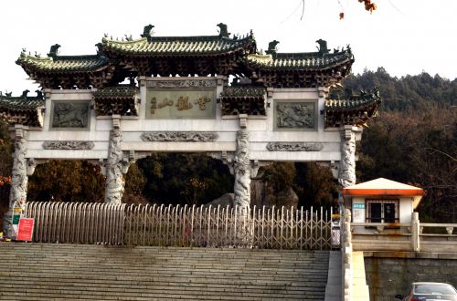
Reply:
[[239, 115], [240, 130], [237, 133], [237, 150], [233, 158], [235, 172], [233, 204], [241, 209], [250, 207], [250, 133], [246, 114]]

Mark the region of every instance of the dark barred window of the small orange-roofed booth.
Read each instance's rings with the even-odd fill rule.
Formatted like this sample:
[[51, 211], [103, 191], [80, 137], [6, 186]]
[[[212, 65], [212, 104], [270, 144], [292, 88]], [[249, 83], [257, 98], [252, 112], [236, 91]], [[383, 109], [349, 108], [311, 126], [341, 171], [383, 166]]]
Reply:
[[367, 200], [367, 223], [399, 223], [399, 200]]

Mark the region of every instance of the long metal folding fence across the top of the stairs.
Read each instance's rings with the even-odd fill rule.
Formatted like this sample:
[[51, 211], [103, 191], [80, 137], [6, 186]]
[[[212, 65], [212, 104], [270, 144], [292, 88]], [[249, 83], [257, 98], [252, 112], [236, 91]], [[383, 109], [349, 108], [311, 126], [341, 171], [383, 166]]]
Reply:
[[[325, 250], [339, 247], [331, 212], [254, 207], [28, 202], [34, 242]], [[335, 234], [336, 233], [336, 234]]]

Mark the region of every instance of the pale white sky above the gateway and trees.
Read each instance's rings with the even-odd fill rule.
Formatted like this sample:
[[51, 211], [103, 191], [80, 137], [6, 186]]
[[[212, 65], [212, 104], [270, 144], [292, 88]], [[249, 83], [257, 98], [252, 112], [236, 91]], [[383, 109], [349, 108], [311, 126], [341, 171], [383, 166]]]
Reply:
[[0, 91], [37, 89], [15, 63], [23, 48], [45, 57], [59, 44], [59, 55], [90, 55], [104, 34], [140, 38], [148, 24], [154, 36], [212, 36], [222, 22], [232, 34], [252, 30], [259, 49], [280, 41], [279, 52], [313, 52], [322, 38], [329, 48], [351, 46], [355, 74], [384, 67], [399, 78], [457, 78], [457, 0], [374, 2], [370, 15], [357, 0], [0, 1]]

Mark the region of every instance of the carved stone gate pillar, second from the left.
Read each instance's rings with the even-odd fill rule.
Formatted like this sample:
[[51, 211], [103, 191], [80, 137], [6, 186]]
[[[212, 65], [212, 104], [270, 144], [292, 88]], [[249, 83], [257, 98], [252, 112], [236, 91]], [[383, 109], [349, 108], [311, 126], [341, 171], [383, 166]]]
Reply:
[[110, 131], [108, 159], [104, 164], [106, 172], [105, 202], [113, 204], [122, 202], [122, 194], [125, 188], [125, 180], [122, 175], [122, 130], [119, 129], [119, 118], [112, 116], [114, 129]]

